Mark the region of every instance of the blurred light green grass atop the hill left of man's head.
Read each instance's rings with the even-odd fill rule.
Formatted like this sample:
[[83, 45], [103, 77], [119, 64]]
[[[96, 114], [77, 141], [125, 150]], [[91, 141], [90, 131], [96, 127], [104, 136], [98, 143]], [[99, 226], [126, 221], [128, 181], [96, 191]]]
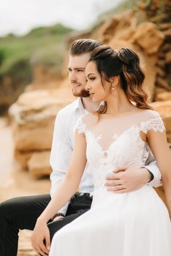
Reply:
[[29, 63], [30, 59], [47, 65], [61, 63], [65, 50], [64, 38], [69, 31], [72, 29], [57, 24], [33, 29], [24, 37], [12, 34], [1, 37], [0, 75], [9, 73], [20, 61]]

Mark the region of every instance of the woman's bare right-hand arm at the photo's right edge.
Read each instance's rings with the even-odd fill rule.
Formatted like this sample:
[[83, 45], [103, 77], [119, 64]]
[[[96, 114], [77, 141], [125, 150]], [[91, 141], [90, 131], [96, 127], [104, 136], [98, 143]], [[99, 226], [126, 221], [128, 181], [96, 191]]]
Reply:
[[149, 130], [147, 134], [148, 144], [156, 159], [163, 181], [167, 208], [171, 217], [171, 152], [167, 144], [166, 132], [154, 132]]

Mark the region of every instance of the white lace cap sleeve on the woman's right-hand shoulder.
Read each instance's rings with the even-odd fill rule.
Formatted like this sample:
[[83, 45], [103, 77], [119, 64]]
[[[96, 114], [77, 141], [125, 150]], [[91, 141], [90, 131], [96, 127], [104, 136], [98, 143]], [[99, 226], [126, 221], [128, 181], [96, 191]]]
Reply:
[[148, 119], [148, 121], [142, 121], [141, 123], [141, 130], [145, 134], [147, 134], [149, 130], [153, 130], [155, 132], [164, 132], [165, 130], [164, 123], [159, 116], [159, 113], [156, 113], [154, 111], [153, 113], [155, 113], [155, 116]]

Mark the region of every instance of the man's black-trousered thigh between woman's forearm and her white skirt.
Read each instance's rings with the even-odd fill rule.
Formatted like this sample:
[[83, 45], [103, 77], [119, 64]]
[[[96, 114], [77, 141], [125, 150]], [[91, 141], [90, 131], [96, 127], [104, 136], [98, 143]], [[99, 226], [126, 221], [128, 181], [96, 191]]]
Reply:
[[91, 203], [92, 197], [89, 195], [79, 195], [78, 193], [75, 194], [69, 203], [66, 217], [47, 224], [50, 230], [50, 240], [52, 241], [53, 236], [58, 230], [61, 229], [61, 227], [64, 227], [66, 224], [69, 224], [73, 220], [77, 219], [77, 217], [80, 217], [80, 215], [88, 211], [91, 208]]

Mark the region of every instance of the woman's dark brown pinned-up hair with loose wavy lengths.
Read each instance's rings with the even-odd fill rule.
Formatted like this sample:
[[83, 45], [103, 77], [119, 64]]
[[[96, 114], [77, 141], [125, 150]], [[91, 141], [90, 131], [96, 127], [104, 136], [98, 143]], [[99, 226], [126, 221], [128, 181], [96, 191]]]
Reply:
[[[147, 104], [148, 95], [142, 88], [145, 75], [140, 68], [140, 59], [133, 50], [121, 48], [115, 51], [108, 45], [100, 45], [92, 51], [89, 61], [96, 63], [96, 69], [104, 80], [110, 82], [110, 78], [118, 76], [121, 89], [137, 108], [152, 109]], [[105, 102], [104, 108], [98, 112], [105, 113], [106, 110]]]

